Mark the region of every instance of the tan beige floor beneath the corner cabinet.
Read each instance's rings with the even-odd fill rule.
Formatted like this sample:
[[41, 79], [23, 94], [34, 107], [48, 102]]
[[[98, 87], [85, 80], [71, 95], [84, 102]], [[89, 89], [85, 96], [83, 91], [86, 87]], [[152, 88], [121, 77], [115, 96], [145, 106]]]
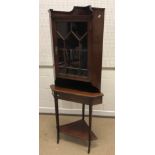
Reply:
[[[60, 124], [79, 119], [79, 116], [60, 116]], [[40, 115], [39, 129], [40, 155], [87, 155], [87, 142], [85, 141], [60, 134], [60, 143], [56, 143], [54, 115]], [[92, 130], [98, 139], [92, 141], [90, 155], [114, 155], [115, 119], [93, 117]]]

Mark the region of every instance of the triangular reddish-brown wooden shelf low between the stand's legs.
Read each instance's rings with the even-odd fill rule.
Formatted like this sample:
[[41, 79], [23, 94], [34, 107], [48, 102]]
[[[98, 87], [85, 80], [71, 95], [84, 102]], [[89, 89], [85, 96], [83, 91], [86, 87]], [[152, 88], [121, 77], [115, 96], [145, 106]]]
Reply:
[[[60, 132], [81, 140], [88, 140], [89, 126], [84, 120], [78, 120], [69, 124], [61, 125]], [[91, 140], [96, 139], [96, 135], [91, 131]]]

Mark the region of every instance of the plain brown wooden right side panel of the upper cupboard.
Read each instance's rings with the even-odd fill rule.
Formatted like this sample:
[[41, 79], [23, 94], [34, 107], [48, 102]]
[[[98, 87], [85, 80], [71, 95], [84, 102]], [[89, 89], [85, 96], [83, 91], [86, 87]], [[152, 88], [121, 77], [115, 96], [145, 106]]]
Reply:
[[104, 9], [94, 9], [92, 19], [91, 81], [101, 89]]

